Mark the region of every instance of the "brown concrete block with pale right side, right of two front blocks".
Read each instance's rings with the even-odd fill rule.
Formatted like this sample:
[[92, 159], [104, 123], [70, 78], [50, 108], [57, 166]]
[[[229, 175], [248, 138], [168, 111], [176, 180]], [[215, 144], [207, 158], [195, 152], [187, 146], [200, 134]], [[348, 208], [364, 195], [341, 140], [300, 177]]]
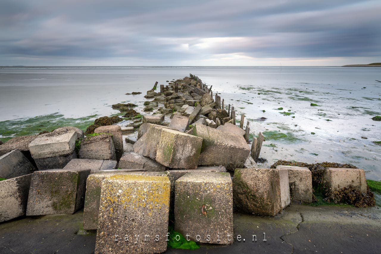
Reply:
[[287, 170], [235, 169], [233, 198], [243, 212], [274, 216], [290, 204]]

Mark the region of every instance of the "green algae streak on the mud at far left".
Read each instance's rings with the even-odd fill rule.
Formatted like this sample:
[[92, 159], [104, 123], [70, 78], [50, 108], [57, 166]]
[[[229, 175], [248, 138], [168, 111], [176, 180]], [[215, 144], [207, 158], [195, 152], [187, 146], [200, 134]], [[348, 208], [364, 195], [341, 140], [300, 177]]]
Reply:
[[94, 123], [98, 115], [80, 118], [65, 118], [59, 113], [32, 118], [20, 118], [0, 122], [0, 140], [5, 142], [13, 137], [35, 135], [43, 131], [51, 132], [58, 127], [74, 126], [83, 131]]

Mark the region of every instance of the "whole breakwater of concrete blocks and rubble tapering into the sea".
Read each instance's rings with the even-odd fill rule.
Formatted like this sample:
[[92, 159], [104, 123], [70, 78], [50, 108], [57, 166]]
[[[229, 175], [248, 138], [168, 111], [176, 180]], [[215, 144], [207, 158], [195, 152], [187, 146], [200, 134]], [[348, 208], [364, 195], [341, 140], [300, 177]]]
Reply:
[[[226, 111], [211, 86], [190, 76], [160, 85], [159, 93], [158, 83], [147, 91], [157, 112], [143, 116], [133, 151], [123, 151], [118, 125], [98, 127], [90, 137], [62, 127], [0, 145], [0, 178], [6, 178], [0, 181], [0, 222], [84, 207], [83, 228], [97, 230], [96, 253], [160, 253], [170, 213], [187, 239], [231, 244], [233, 203], [259, 215], [278, 214], [291, 197], [311, 203], [311, 171], [258, 168], [263, 135], [250, 149], [244, 116], [235, 125], [234, 108], [229, 104]], [[330, 191], [367, 190], [362, 169], [325, 174]]]

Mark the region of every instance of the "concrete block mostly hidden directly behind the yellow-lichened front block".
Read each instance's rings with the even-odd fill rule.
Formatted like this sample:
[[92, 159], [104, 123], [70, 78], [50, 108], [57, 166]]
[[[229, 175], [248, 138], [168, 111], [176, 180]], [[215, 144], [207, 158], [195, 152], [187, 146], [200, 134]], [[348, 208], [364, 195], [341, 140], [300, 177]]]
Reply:
[[99, 201], [101, 199], [102, 181], [113, 175], [131, 174], [166, 176], [164, 172], [131, 172], [128, 169], [102, 170], [89, 175], [86, 182], [85, 206], [83, 208], [83, 229], [94, 230], [98, 227]]

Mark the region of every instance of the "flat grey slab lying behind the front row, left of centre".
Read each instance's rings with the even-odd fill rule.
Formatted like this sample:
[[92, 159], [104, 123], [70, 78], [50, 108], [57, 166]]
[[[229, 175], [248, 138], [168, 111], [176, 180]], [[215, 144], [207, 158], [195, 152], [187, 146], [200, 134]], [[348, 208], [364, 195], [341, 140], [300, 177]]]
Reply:
[[90, 159], [72, 159], [64, 169], [90, 169], [91, 173], [99, 170], [115, 169], [117, 161], [90, 160]]

